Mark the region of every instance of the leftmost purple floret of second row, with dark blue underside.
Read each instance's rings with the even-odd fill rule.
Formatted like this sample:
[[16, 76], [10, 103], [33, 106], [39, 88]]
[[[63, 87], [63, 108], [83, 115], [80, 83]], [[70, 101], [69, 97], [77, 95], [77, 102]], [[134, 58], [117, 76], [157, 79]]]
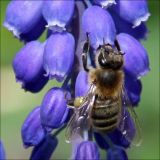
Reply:
[[15, 56], [13, 69], [22, 88], [31, 92], [40, 91], [48, 81], [43, 69], [44, 44], [38, 41], [27, 43]]

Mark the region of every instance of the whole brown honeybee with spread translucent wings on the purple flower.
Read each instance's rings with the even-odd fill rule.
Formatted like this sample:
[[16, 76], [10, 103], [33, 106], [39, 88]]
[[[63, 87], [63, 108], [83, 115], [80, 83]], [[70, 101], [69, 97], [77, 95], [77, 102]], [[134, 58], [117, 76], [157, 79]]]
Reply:
[[[114, 47], [104, 42], [96, 50], [96, 67], [88, 66], [88, 36], [83, 46], [82, 62], [84, 70], [88, 72], [90, 88], [86, 96], [68, 101], [74, 113], [67, 126], [67, 141], [77, 136], [85, 139], [90, 130], [104, 135], [119, 129], [129, 142], [138, 146], [141, 143], [141, 128], [125, 91], [124, 53], [117, 40]], [[129, 119], [135, 126], [134, 134], [128, 125]]]

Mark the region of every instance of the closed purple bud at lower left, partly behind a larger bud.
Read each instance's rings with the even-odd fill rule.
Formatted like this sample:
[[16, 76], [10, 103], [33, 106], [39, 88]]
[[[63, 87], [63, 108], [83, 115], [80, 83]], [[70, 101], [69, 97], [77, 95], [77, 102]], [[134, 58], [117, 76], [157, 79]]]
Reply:
[[27, 116], [21, 129], [22, 140], [24, 146], [36, 146], [38, 145], [45, 136], [45, 132], [41, 125], [40, 119], [40, 107], [36, 107]]

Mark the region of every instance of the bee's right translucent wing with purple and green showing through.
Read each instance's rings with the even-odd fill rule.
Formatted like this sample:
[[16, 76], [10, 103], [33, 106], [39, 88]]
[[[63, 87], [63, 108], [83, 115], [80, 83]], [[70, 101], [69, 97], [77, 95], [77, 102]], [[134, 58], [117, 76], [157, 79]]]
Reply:
[[131, 144], [135, 146], [141, 144], [142, 132], [140, 123], [124, 87], [122, 90], [122, 119], [119, 129]]

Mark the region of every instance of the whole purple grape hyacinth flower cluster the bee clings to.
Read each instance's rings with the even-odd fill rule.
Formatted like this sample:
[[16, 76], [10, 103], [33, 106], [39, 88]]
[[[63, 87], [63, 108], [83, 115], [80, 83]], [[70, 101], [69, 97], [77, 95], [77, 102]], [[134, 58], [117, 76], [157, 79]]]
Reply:
[[[140, 41], [147, 38], [145, 22], [149, 16], [146, 0], [24, 0], [9, 3], [4, 26], [25, 41], [25, 46], [13, 60], [16, 80], [21, 82], [23, 89], [33, 93], [39, 92], [49, 80], [61, 84], [45, 94], [42, 103], [22, 125], [24, 146], [34, 146], [30, 159], [51, 158], [58, 145], [57, 135], [66, 128], [73, 114], [74, 109], [67, 107], [67, 100], [87, 94], [90, 83], [81, 58], [87, 34], [91, 45], [88, 63], [92, 67], [95, 67], [97, 48], [104, 43], [114, 47], [115, 40], [118, 41], [125, 53], [124, 86], [132, 106], [139, 104], [140, 78], [150, 70], [147, 51]], [[40, 43], [37, 39], [45, 29], [49, 34], [45, 42]], [[123, 127], [134, 137], [136, 126], [132, 117], [128, 112], [123, 116], [126, 119]], [[73, 141], [72, 159], [99, 160], [99, 149], [106, 151], [108, 160], [128, 159], [126, 150], [131, 141], [118, 128], [103, 135], [94, 130], [87, 130], [87, 133], [89, 136], [84, 139]]]

